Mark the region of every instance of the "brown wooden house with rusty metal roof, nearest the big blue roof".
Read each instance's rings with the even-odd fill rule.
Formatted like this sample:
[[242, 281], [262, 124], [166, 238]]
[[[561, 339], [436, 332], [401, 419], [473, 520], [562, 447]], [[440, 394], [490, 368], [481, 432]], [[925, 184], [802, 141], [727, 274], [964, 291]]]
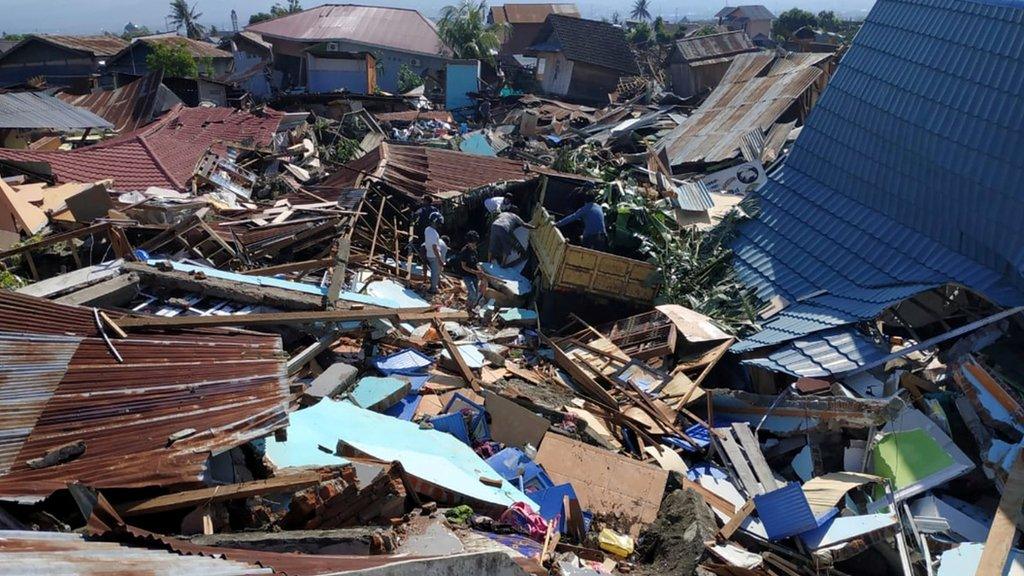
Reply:
[[676, 40], [668, 60], [672, 91], [688, 98], [714, 90], [736, 55], [756, 51], [741, 30]]

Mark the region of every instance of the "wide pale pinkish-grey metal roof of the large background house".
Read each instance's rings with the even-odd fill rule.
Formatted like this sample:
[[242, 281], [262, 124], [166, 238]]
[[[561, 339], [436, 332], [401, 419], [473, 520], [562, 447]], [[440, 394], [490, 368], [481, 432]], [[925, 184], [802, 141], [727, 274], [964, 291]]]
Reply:
[[264, 38], [347, 40], [406, 52], [444, 55], [434, 24], [409, 8], [325, 4], [246, 27]]

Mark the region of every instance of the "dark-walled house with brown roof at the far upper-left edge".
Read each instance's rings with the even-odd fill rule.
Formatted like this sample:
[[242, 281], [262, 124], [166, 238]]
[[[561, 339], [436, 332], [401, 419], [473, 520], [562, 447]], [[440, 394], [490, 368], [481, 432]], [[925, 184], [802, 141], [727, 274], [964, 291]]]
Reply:
[[0, 87], [42, 77], [47, 86], [85, 93], [98, 84], [108, 60], [127, 45], [117, 36], [32, 35], [0, 54]]

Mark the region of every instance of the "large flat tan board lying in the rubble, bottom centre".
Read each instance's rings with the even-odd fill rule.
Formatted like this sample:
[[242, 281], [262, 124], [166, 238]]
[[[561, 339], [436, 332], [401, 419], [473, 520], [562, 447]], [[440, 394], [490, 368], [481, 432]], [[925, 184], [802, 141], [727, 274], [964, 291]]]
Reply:
[[553, 482], [572, 485], [584, 509], [622, 522], [633, 537], [657, 518], [668, 470], [555, 434], [536, 460]]

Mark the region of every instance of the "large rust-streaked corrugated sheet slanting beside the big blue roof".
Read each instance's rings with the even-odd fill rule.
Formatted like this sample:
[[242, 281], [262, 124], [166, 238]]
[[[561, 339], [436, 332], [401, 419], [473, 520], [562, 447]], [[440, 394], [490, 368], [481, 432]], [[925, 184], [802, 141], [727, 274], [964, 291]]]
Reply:
[[[771, 55], [736, 56], [700, 108], [662, 139], [659, 148], [667, 149], [672, 165], [736, 158], [752, 130], [769, 130], [812, 87], [820, 86], [825, 72], [816, 65], [824, 58], [797, 55], [781, 66]], [[767, 75], [759, 76], [766, 69]]]

